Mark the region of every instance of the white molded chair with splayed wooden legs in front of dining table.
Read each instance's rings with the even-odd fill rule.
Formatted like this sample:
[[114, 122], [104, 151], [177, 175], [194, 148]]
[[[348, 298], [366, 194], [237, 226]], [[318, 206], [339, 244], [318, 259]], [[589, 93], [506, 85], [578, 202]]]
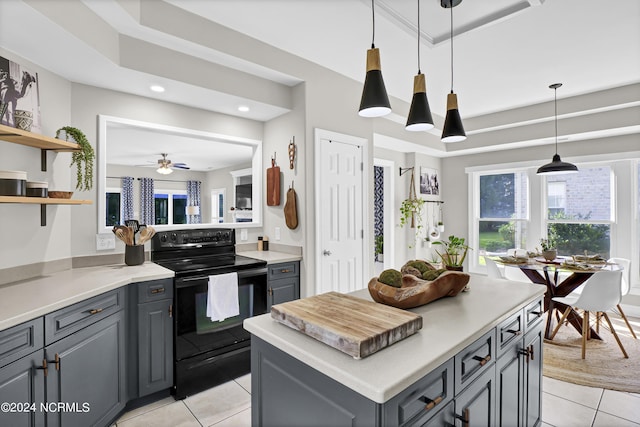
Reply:
[[584, 283], [582, 293], [578, 297], [554, 297], [554, 302], [566, 304], [568, 307], [562, 314], [562, 317], [558, 321], [558, 324], [551, 333], [549, 339], [553, 339], [560, 329], [560, 326], [564, 323], [567, 316], [571, 312], [572, 308], [578, 308], [583, 310], [582, 315], [582, 358], [585, 358], [587, 339], [589, 338], [589, 331], [591, 326], [589, 325], [589, 314], [594, 313], [596, 317], [602, 316], [609, 324], [611, 333], [613, 334], [622, 354], [625, 358], [629, 358], [616, 330], [611, 324], [611, 320], [607, 315], [607, 311], [620, 304], [622, 298], [620, 282], [622, 280], [622, 271], [601, 271], [598, 272], [598, 280], [587, 280]]

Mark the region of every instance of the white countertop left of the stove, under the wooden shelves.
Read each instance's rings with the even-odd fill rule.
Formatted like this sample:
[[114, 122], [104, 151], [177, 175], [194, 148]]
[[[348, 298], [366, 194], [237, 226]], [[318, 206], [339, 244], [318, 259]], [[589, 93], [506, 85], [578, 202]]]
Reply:
[[75, 268], [0, 287], [0, 331], [129, 283], [173, 277], [146, 262]]

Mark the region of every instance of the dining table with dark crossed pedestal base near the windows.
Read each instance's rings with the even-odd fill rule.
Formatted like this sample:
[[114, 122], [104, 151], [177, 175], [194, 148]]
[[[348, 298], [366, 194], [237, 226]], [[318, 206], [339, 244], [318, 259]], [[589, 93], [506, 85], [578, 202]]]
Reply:
[[[546, 260], [542, 257], [491, 257], [496, 263], [506, 268], [518, 268], [533, 283], [546, 286], [544, 295], [544, 311], [547, 313], [547, 321], [544, 330], [545, 339], [550, 340], [554, 323], [559, 321], [559, 313], [563, 313], [567, 307], [554, 297], [564, 297], [587, 281], [591, 276], [604, 270], [621, 270], [618, 264], [604, 260], [597, 262], [576, 262], [573, 257], [557, 257], [554, 260]], [[555, 319], [554, 319], [554, 310]], [[582, 335], [582, 315], [573, 307], [567, 316], [567, 322]], [[598, 332], [591, 327], [591, 338], [602, 339]]]

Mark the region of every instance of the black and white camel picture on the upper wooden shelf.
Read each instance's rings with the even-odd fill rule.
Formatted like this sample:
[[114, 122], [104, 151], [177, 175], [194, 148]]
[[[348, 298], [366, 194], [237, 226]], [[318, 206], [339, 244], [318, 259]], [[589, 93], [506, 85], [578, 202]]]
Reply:
[[38, 74], [0, 56], [0, 123], [40, 133]]

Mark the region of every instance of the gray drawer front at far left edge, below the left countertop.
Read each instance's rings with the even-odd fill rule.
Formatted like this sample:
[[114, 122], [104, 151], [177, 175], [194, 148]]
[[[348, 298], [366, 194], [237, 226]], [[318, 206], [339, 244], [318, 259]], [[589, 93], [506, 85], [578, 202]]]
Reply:
[[42, 317], [0, 332], [0, 366], [7, 365], [44, 346]]

